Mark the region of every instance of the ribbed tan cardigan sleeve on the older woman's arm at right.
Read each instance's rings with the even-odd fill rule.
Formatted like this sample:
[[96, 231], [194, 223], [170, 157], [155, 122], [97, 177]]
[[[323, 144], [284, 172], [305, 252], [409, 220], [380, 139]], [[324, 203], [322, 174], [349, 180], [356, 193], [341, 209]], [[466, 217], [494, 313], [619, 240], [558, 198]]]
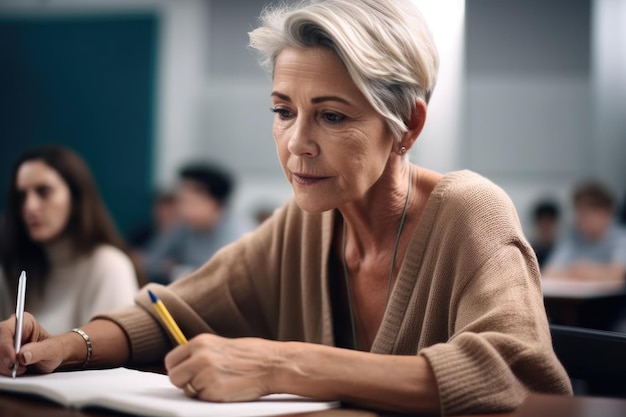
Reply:
[[514, 409], [531, 392], [569, 393], [552, 351], [538, 283], [515, 247], [502, 249], [456, 298], [453, 335], [423, 349], [443, 414]]

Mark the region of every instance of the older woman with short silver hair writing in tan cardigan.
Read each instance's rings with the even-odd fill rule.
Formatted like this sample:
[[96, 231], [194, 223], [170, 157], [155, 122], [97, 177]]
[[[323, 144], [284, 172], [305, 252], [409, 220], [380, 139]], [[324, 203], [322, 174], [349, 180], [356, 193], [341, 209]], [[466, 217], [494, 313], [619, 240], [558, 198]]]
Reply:
[[[188, 277], [151, 288], [190, 343], [172, 349], [145, 291], [83, 330], [91, 366], [160, 361], [203, 400], [274, 392], [408, 412], [512, 409], [568, 393], [532, 249], [502, 190], [411, 164], [437, 53], [409, 0], [322, 0], [251, 33], [273, 77], [294, 199]], [[0, 356], [15, 360], [13, 321]], [[85, 362], [32, 319], [20, 372]], [[219, 335], [219, 336], [218, 336]], [[168, 351], [170, 351], [168, 353]]]

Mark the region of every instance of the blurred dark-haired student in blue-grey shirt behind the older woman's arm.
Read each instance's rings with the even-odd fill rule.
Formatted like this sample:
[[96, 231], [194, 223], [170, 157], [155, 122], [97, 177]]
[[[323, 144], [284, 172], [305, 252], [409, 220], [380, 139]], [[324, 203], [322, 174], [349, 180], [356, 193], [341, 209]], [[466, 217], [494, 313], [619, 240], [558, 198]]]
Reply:
[[181, 169], [179, 177], [179, 223], [147, 251], [144, 272], [152, 282], [167, 284], [195, 270], [254, 228], [229, 211], [234, 184], [228, 172], [209, 164], [191, 164]]

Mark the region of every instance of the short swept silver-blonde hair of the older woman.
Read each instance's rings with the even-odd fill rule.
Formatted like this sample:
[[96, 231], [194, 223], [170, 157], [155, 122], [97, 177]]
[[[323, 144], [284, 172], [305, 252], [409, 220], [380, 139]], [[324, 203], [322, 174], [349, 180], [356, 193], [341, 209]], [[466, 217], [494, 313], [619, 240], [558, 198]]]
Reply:
[[397, 140], [417, 100], [430, 99], [439, 55], [410, 0], [305, 0], [267, 7], [259, 19], [250, 46], [267, 71], [286, 47], [331, 48]]

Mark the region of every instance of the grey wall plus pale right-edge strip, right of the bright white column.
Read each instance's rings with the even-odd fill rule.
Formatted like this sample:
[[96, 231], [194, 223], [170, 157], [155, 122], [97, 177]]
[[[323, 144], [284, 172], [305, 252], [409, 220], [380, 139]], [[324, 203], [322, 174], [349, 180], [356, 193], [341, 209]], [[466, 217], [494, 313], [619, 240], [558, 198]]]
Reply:
[[577, 182], [626, 188], [626, 2], [472, 0], [463, 162], [532, 204]]

